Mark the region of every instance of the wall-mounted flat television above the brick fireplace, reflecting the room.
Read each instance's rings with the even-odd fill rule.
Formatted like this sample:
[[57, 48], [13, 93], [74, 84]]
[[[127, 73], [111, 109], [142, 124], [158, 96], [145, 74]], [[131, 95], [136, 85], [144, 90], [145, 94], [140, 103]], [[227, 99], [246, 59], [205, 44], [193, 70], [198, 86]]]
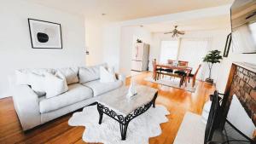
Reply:
[[235, 0], [230, 9], [234, 53], [256, 53], [256, 0]]

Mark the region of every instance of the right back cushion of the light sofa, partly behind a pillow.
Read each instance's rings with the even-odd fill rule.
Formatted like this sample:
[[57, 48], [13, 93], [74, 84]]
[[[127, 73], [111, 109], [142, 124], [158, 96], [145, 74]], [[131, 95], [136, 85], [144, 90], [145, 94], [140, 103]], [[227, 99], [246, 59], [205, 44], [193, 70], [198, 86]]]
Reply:
[[100, 78], [100, 66], [107, 66], [107, 64], [79, 67], [79, 84], [84, 84]]

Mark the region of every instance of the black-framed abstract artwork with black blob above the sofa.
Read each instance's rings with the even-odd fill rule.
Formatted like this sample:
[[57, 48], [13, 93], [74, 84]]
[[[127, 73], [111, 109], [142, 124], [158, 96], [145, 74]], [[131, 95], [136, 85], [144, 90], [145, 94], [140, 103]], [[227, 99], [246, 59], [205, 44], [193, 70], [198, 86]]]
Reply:
[[28, 19], [33, 49], [62, 49], [61, 24]]

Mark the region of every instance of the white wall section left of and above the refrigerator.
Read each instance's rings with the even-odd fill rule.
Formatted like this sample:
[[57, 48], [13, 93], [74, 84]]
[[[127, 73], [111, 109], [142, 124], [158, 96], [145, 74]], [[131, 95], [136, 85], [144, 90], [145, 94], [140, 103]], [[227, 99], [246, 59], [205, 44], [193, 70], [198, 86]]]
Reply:
[[140, 26], [121, 27], [119, 72], [126, 76], [131, 75], [131, 49], [134, 47], [137, 38], [141, 39], [143, 43], [151, 44], [151, 32], [147, 29]]

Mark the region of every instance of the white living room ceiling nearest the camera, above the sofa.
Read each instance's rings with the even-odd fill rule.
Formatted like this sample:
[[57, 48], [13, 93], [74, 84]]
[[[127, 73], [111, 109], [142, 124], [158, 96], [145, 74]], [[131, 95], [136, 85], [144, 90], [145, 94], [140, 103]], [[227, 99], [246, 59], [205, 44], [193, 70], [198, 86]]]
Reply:
[[[87, 18], [133, 20], [193, 9], [216, 7], [233, 0], [26, 0]], [[106, 14], [102, 16], [102, 13]]]

